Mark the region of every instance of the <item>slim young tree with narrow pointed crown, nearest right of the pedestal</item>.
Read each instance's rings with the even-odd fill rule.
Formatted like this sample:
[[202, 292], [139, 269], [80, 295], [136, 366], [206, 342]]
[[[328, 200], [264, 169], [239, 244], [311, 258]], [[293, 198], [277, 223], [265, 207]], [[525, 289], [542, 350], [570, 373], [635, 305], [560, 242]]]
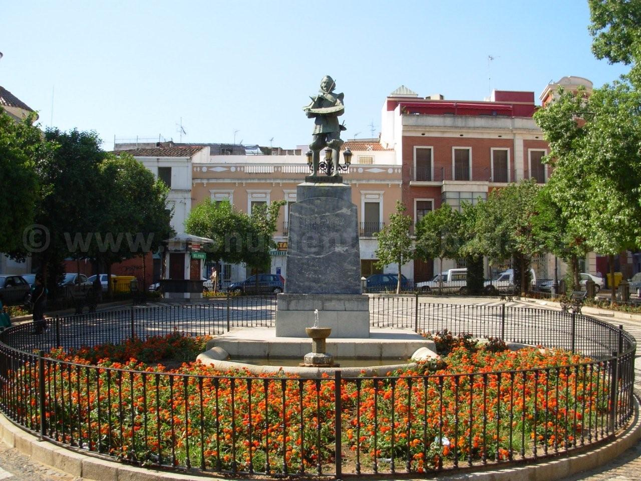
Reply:
[[414, 257], [413, 240], [410, 235], [412, 217], [405, 214], [406, 208], [401, 201], [396, 201], [396, 212], [390, 215], [390, 223], [376, 233], [376, 265], [383, 269], [387, 264], [398, 265], [398, 282], [396, 294], [401, 293], [401, 267]]

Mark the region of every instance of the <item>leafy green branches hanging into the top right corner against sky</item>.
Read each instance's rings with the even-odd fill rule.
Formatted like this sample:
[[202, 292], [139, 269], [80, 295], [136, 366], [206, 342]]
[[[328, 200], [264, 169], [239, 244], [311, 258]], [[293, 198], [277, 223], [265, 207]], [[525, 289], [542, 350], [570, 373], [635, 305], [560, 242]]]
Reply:
[[588, 0], [592, 53], [610, 63], [632, 64], [630, 80], [641, 85], [641, 2]]

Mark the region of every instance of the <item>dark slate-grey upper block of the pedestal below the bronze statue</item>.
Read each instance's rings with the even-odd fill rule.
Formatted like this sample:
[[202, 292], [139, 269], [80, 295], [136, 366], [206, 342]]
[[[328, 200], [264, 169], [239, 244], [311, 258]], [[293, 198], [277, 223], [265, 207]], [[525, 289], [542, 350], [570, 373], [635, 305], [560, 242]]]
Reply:
[[299, 200], [290, 208], [289, 229], [285, 292], [362, 293], [353, 203], [331, 197]]

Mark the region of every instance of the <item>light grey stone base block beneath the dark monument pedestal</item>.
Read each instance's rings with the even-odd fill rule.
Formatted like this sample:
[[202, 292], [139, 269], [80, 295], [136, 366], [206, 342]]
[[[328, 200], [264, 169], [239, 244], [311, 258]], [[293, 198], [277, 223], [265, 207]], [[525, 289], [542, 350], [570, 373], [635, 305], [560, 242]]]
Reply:
[[329, 338], [369, 337], [369, 296], [367, 294], [278, 294], [276, 296], [276, 337], [307, 337], [306, 327], [314, 324], [331, 328]]

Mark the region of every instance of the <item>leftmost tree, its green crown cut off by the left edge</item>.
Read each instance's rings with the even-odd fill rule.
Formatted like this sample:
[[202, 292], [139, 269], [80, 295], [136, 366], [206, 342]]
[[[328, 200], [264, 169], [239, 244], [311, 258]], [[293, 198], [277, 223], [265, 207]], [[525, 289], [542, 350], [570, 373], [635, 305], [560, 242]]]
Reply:
[[[0, 107], [0, 252], [21, 248], [38, 198], [36, 162], [51, 155], [52, 146], [32, 124], [35, 114], [13, 121]], [[28, 242], [29, 239], [26, 239]]]

